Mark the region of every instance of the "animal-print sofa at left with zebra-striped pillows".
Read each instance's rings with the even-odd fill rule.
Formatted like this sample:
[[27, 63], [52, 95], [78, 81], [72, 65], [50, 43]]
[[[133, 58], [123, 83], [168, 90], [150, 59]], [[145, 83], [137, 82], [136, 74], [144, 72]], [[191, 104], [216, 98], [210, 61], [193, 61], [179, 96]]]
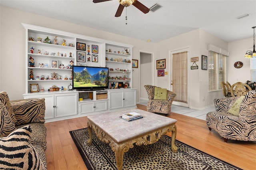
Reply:
[[10, 101], [0, 92], [0, 169], [46, 170], [44, 99]]

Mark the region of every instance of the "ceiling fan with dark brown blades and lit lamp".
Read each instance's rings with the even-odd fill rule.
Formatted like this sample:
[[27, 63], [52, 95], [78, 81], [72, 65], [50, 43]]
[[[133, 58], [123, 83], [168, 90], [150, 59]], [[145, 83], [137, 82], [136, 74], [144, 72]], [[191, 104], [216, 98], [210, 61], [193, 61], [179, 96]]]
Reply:
[[[105, 2], [105, 1], [110, 1], [110, 0], [93, 0], [92, 2], [94, 3], [98, 3], [98, 2]], [[119, 6], [118, 9], [116, 11], [116, 15], [115, 17], [119, 17], [121, 16], [124, 7], [130, 6], [131, 4], [133, 6], [135, 6], [136, 8], [138, 8], [141, 12], [143, 12], [144, 14], [148, 13], [150, 11], [149, 8], [147, 8], [146, 6], [144, 6], [142, 3], [140, 3], [138, 0], [119, 0]]]

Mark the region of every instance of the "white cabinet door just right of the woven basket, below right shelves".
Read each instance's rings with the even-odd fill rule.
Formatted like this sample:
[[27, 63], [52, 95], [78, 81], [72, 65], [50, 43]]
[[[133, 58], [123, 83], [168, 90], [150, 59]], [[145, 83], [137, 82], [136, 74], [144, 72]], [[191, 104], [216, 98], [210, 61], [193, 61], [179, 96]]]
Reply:
[[118, 109], [124, 107], [124, 91], [113, 90], [109, 91], [109, 109]]

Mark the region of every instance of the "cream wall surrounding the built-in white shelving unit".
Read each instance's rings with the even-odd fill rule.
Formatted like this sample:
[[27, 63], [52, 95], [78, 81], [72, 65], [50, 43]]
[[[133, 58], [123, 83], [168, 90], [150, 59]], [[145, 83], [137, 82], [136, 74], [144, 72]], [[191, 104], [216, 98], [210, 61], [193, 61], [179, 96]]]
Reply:
[[[154, 52], [154, 44], [101, 30], [0, 6], [0, 91], [7, 91], [11, 100], [22, 99], [25, 93], [25, 29], [21, 23], [102, 38], [134, 45], [132, 58], [139, 50]], [[132, 73], [132, 87], [139, 88], [138, 69]], [[137, 90], [138, 93], [138, 90]], [[137, 101], [138, 95], [137, 95]]]

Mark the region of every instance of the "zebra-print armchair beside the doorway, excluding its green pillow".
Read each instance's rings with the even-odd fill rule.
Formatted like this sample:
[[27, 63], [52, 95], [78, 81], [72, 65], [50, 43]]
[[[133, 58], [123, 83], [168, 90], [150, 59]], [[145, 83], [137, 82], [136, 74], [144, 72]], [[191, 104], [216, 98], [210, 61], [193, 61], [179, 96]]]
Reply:
[[154, 89], [156, 86], [144, 85], [144, 87], [148, 93], [147, 111], [167, 116], [171, 111], [172, 101], [176, 94], [167, 90], [167, 100], [154, 100]]

